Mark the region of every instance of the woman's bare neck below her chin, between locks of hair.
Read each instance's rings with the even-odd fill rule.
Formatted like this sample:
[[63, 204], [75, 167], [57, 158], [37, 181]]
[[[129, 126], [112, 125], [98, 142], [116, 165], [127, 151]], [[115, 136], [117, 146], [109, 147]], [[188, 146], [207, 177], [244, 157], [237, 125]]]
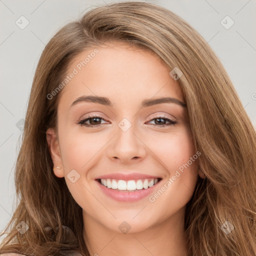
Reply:
[[187, 255], [184, 208], [168, 219], [135, 233], [109, 229], [85, 211], [83, 223], [83, 237], [90, 256]]

